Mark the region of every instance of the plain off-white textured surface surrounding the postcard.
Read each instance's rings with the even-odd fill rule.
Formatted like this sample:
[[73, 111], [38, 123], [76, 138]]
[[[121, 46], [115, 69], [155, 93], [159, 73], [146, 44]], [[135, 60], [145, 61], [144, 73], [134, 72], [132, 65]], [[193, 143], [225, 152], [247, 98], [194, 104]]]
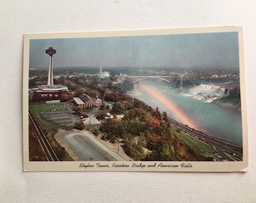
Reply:
[[[66, 0], [0, 3], [0, 202], [256, 202], [256, 2]], [[23, 172], [23, 34], [243, 26], [247, 173]]]

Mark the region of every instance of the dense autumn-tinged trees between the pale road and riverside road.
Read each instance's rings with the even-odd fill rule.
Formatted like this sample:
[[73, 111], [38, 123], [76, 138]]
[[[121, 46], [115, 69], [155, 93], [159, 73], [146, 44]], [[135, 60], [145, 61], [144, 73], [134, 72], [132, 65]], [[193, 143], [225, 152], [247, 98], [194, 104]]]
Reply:
[[[117, 105], [118, 108], [114, 108]], [[126, 112], [122, 120], [104, 120], [99, 128], [102, 139], [120, 142], [134, 160], [198, 160], [197, 153], [171, 126], [160, 111], [137, 98], [116, 102], [112, 113]], [[166, 115], [163, 114], [163, 115]]]

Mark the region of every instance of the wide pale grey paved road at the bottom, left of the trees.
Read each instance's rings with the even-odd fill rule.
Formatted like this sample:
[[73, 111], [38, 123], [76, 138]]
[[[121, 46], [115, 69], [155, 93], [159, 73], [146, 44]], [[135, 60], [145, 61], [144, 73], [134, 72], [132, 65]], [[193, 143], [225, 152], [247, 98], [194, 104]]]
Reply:
[[89, 132], [72, 132], [62, 135], [72, 151], [82, 161], [125, 161], [114, 151], [105, 147]]

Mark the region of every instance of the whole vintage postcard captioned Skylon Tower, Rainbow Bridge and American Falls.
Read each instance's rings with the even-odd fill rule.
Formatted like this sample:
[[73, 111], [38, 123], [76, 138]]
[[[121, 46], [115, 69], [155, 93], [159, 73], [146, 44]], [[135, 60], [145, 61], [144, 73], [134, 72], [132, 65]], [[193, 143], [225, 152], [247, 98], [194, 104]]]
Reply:
[[24, 35], [24, 171], [248, 171], [242, 28]]

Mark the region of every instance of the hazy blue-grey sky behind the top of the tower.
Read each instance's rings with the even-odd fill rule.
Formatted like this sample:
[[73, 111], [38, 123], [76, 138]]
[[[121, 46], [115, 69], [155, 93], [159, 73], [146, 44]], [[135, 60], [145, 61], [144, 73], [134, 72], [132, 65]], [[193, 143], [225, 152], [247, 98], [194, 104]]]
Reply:
[[29, 68], [53, 67], [181, 67], [238, 68], [237, 32], [108, 38], [30, 40]]

